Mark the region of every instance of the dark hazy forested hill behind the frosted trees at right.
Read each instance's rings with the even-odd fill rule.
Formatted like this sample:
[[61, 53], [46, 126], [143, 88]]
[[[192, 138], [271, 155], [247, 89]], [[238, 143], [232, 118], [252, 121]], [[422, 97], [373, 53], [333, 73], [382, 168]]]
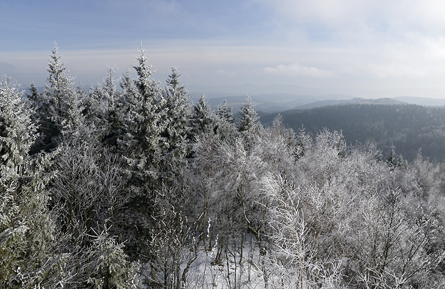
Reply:
[[[264, 125], [277, 114], [260, 114]], [[283, 123], [316, 134], [321, 129], [342, 131], [348, 144], [373, 140], [383, 155], [390, 147], [408, 161], [422, 156], [445, 160], [445, 108], [421, 105], [353, 104], [281, 112]]]

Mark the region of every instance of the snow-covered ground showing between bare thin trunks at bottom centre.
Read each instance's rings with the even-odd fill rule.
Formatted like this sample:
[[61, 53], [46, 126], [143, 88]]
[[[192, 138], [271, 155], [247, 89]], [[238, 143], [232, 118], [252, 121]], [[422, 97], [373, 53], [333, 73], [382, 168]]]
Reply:
[[[312, 288], [305, 278], [299, 279], [301, 275], [296, 274], [294, 269], [271, 264], [267, 257], [260, 255], [258, 243], [253, 236], [247, 236], [242, 249], [232, 244], [221, 252], [218, 262], [215, 262], [218, 258], [218, 243], [213, 244], [209, 250], [201, 246], [189, 268], [183, 288]], [[187, 266], [187, 260], [183, 261], [181, 275]], [[142, 279], [139, 281], [140, 284], [143, 283]], [[335, 282], [325, 282], [321, 288], [335, 288], [334, 284]]]

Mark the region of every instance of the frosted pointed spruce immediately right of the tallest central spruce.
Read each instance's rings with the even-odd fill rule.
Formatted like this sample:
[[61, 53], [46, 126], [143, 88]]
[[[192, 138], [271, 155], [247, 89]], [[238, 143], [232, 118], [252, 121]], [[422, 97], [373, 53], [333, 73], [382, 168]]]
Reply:
[[176, 68], [172, 68], [172, 74], [167, 79], [167, 85], [162, 91], [162, 123], [164, 130], [161, 132], [162, 149], [162, 175], [163, 179], [173, 177], [173, 171], [186, 164], [185, 158], [190, 147], [188, 145], [188, 121], [190, 119], [191, 105], [187, 97], [185, 86], [181, 86]]

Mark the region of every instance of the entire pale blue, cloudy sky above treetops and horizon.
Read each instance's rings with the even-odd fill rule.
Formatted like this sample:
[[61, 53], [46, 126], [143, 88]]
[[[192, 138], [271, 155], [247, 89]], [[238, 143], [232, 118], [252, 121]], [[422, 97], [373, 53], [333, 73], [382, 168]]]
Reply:
[[23, 88], [44, 86], [54, 43], [84, 86], [101, 83], [110, 66], [133, 73], [142, 43], [161, 83], [176, 67], [183, 84], [208, 90], [273, 84], [445, 98], [445, 1], [5, 2], [0, 75]]

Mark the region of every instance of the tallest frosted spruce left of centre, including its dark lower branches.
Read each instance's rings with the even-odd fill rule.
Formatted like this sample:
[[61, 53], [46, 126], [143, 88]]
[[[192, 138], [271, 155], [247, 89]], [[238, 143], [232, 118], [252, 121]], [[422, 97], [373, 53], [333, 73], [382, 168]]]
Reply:
[[[153, 72], [142, 47], [139, 52], [139, 65], [134, 67], [138, 78], [134, 80], [134, 86], [127, 81], [129, 79], [122, 82], [123, 102], [127, 103], [127, 108], [123, 108], [125, 134], [118, 140], [119, 151], [126, 163], [128, 193], [133, 196], [130, 222], [131, 227], [137, 228], [130, 241], [133, 244], [142, 244], [155, 223], [153, 199], [161, 188], [160, 142], [165, 129], [159, 84], [152, 79]], [[146, 245], [141, 246], [140, 249], [147, 249]]]

